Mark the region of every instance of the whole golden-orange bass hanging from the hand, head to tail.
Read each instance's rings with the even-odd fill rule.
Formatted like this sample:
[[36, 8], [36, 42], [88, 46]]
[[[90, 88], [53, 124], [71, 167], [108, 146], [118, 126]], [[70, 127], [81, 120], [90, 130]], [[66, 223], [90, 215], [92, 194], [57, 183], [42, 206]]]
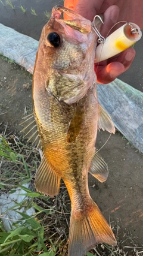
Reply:
[[[67, 19], [62, 19], [63, 13]], [[97, 28], [100, 20], [95, 21]], [[92, 200], [88, 173], [104, 182], [108, 167], [95, 149], [98, 129], [114, 133], [98, 103], [94, 59], [97, 34], [91, 21], [57, 5], [43, 27], [33, 73], [35, 141], [42, 146], [36, 171], [39, 192], [54, 197], [63, 179], [71, 200], [69, 256], [83, 256], [98, 243], [116, 245], [113, 231]], [[34, 116], [36, 125], [30, 120]], [[30, 134], [27, 132], [27, 135]], [[32, 139], [32, 135], [30, 135]]]

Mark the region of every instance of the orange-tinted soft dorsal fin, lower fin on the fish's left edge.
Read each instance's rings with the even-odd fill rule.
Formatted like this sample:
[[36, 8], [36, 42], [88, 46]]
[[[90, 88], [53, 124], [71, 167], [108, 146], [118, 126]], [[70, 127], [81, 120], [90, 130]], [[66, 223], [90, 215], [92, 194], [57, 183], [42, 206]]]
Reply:
[[43, 155], [42, 162], [35, 176], [36, 189], [43, 194], [54, 197], [60, 191], [60, 184], [61, 177], [58, 176]]

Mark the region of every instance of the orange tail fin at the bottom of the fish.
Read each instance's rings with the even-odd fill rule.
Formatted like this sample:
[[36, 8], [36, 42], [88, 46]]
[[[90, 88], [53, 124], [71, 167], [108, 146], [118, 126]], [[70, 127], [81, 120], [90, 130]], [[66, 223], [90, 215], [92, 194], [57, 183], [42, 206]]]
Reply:
[[97, 204], [91, 201], [87, 208], [86, 213], [71, 212], [69, 256], [83, 256], [102, 242], [116, 245], [114, 234]]

